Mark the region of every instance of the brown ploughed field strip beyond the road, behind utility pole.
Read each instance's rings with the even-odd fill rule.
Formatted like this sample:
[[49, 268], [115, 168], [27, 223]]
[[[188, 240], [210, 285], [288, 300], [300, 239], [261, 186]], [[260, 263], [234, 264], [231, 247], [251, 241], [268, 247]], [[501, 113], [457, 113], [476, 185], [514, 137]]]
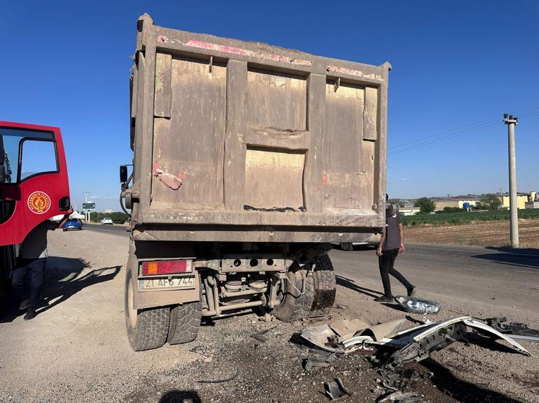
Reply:
[[[429, 244], [509, 247], [509, 221], [478, 221], [451, 226], [407, 226], [405, 240]], [[539, 219], [519, 220], [519, 246], [524, 249], [539, 249]]]

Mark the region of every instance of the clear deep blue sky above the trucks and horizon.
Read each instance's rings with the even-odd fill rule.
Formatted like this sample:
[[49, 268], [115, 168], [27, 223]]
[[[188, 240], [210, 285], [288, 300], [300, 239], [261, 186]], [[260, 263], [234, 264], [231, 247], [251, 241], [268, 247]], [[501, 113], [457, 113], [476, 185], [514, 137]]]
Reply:
[[130, 55], [145, 12], [165, 27], [390, 61], [391, 196], [507, 191], [506, 111], [519, 116], [519, 191], [539, 190], [537, 1], [0, 0], [0, 119], [62, 129], [78, 207], [87, 190], [98, 210], [119, 210]]

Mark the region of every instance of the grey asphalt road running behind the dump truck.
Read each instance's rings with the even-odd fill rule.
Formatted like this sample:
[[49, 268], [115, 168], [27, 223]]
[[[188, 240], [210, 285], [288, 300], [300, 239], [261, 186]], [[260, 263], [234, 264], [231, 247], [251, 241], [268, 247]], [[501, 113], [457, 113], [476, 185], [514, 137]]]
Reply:
[[[87, 225], [85, 230], [127, 237], [125, 226]], [[330, 256], [337, 281], [372, 297], [381, 294], [378, 258], [371, 247], [354, 251], [335, 249]], [[512, 309], [535, 316], [539, 307], [539, 251], [486, 249], [454, 245], [407, 244], [395, 261], [418, 294], [444, 301], [468, 301], [476, 307]], [[361, 286], [358, 286], [361, 284]], [[391, 278], [393, 294], [405, 288]], [[465, 312], [463, 312], [465, 314]]]

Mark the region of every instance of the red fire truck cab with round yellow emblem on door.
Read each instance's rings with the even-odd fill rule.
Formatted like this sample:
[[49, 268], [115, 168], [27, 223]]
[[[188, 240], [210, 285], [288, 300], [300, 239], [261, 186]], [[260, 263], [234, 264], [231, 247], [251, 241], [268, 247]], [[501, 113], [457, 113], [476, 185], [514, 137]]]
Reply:
[[70, 206], [60, 129], [0, 122], [0, 302], [18, 244], [41, 221]]

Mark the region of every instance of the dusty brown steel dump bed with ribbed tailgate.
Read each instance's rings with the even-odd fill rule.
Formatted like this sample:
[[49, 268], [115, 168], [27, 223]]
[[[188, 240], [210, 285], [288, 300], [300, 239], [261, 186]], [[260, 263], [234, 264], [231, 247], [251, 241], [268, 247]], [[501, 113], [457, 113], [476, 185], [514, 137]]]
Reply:
[[143, 15], [131, 96], [134, 240], [378, 233], [390, 68], [166, 29]]

